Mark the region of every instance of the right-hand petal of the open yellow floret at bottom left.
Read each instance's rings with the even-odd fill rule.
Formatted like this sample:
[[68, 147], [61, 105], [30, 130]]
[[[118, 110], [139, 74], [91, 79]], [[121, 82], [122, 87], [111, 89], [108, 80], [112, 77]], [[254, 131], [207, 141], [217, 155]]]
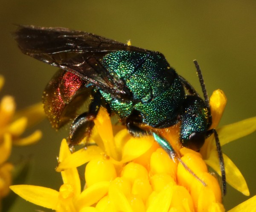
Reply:
[[77, 199], [76, 206], [84, 207], [91, 206], [98, 202], [108, 192], [109, 182], [102, 181], [84, 189]]

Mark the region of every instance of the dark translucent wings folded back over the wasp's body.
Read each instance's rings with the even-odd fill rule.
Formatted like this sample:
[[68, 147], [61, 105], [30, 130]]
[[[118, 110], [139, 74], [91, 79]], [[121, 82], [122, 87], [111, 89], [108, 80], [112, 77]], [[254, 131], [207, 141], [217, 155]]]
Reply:
[[129, 99], [130, 93], [117, 76], [102, 67], [102, 58], [112, 51], [151, 51], [128, 46], [94, 34], [66, 28], [20, 26], [15, 40], [24, 54], [75, 73], [113, 96]]

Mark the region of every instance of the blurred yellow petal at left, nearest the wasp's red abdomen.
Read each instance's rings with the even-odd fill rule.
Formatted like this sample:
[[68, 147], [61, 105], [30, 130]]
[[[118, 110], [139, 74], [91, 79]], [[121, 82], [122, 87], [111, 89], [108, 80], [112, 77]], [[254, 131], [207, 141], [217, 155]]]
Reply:
[[15, 113], [14, 119], [20, 119], [23, 116], [25, 116], [28, 121], [28, 127], [41, 122], [45, 118], [43, 104], [40, 102], [35, 105], [26, 107], [23, 110], [17, 111], [17, 113]]

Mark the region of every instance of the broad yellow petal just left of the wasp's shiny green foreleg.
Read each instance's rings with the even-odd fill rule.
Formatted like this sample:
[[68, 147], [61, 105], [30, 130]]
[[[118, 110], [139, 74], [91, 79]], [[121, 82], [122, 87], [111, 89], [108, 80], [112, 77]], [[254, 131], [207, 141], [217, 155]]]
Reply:
[[122, 163], [132, 161], [143, 155], [150, 147], [153, 145], [154, 139], [152, 136], [144, 136], [141, 138], [131, 138], [129, 139], [122, 151]]

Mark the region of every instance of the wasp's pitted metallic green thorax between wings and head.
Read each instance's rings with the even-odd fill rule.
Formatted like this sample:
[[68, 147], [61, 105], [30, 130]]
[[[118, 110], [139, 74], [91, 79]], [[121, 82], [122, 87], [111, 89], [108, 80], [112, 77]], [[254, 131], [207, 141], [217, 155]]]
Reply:
[[177, 73], [162, 54], [115, 51], [103, 57], [102, 65], [112, 76], [122, 79], [133, 95], [133, 101], [125, 102], [100, 90], [111, 110], [121, 119], [138, 110], [143, 123], [151, 127], [166, 127], [161, 123], [175, 124], [185, 91]]

